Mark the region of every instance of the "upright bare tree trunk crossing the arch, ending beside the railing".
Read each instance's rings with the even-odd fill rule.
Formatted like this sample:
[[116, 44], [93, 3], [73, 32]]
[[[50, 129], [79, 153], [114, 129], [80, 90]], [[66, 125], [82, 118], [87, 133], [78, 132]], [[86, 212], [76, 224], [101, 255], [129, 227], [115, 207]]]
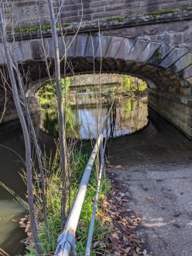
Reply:
[[66, 132], [64, 123], [64, 112], [63, 112], [63, 96], [62, 88], [60, 82], [60, 53], [59, 53], [59, 43], [57, 37], [57, 19], [53, 10], [53, 1], [48, 0], [50, 9], [50, 21], [53, 36], [53, 47], [55, 55], [55, 75], [56, 75], [56, 85], [57, 85], [57, 109], [58, 109], [58, 122], [59, 122], [59, 137], [60, 137], [60, 155], [61, 155], [61, 168], [62, 168], [62, 199], [61, 199], [61, 217], [62, 217], [62, 227], [67, 218], [67, 194], [68, 194], [68, 175], [67, 175], [67, 142], [66, 142]]

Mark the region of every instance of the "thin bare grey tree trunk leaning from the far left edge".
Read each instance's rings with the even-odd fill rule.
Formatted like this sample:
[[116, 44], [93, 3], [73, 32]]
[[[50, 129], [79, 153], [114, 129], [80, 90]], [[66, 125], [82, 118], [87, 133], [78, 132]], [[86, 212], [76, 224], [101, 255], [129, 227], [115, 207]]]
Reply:
[[5, 56], [7, 60], [7, 67], [9, 71], [9, 77], [12, 84], [12, 95], [15, 102], [15, 107], [17, 109], [19, 120], [22, 126], [22, 133], [25, 141], [26, 147], [26, 172], [27, 172], [27, 190], [28, 190], [28, 202], [29, 202], [29, 214], [30, 214], [30, 224], [31, 230], [34, 237], [34, 242], [36, 245], [36, 251], [38, 254], [42, 254], [42, 250], [39, 244], [39, 237], [36, 229], [36, 215], [35, 207], [33, 202], [33, 174], [32, 174], [32, 161], [31, 161], [31, 143], [29, 137], [29, 131], [27, 129], [26, 119], [22, 112], [22, 106], [19, 99], [19, 92], [15, 81], [15, 74], [13, 71], [12, 56], [9, 49], [9, 43], [7, 42], [7, 35], [5, 30], [5, 22], [2, 15], [2, 6], [0, 8], [0, 31], [2, 33], [2, 41], [4, 43]]

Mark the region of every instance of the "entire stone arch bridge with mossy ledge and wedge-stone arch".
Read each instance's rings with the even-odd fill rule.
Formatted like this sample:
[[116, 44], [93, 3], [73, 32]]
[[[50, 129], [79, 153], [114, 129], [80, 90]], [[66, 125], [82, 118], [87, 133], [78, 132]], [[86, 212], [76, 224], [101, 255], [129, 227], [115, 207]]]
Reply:
[[[58, 3], [54, 3], [57, 12]], [[192, 137], [192, 1], [158, 0], [154, 4], [150, 1], [122, 0], [116, 4], [111, 0], [110, 6], [104, 0], [84, 1], [83, 5], [78, 1], [70, 3], [66, 1], [65, 9], [62, 9], [65, 36], [61, 33], [59, 36], [60, 57], [65, 54], [67, 57], [67, 74], [102, 71], [142, 78], [149, 85], [149, 105]], [[38, 13], [43, 9], [45, 16], [42, 15], [38, 22], [48, 23], [46, 2], [42, 1], [41, 5], [30, 2], [27, 7], [18, 0], [14, 6], [15, 17], [19, 17], [20, 12], [26, 13], [26, 8], [32, 16], [35, 16], [34, 7]], [[82, 6], [84, 16], [80, 25]], [[6, 8], [9, 26], [11, 18]], [[73, 8], [73, 11], [70, 10]], [[77, 16], [72, 16], [73, 13]], [[9, 40], [21, 72], [27, 74], [26, 93], [33, 99], [36, 88], [43, 85], [48, 76], [46, 61], [50, 74], [53, 74], [53, 42], [49, 26], [44, 26], [47, 29], [39, 33], [36, 19], [22, 17], [25, 19], [19, 20], [19, 24], [25, 29], [15, 34], [14, 43], [12, 36]], [[27, 31], [26, 27], [32, 23], [34, 31]], [[77, 31], [78, 35], [74, 37]], [[0, 66], [6, 75], [2, 43], [0, 56]], [[64, 61], [61, 62], [62, 71], [63, 66]], [[3, 90], [1, 95], [2, 112], [5, 101]], [[12, 98], [11, 94], [8, 97]], [[15, 118], [12, 100], [8, 101], [6, 108], [4, 123]]]

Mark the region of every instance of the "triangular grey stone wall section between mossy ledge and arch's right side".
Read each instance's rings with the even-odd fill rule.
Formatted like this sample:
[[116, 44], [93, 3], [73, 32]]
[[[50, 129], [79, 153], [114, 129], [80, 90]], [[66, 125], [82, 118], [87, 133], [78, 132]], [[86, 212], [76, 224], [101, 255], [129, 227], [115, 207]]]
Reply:
[[179, 20], [178, 18], [173, 22], [171, 22], [171, 19], [170, 22], [153, 21], [149, 24], [142, 23], [141, 26], [108, 29], [101, 31], [101, 35], [129, 37], [132, 40], [149, 40], [192, 51], [192, 40], [190, 40], [192, 38], [191, 19]]

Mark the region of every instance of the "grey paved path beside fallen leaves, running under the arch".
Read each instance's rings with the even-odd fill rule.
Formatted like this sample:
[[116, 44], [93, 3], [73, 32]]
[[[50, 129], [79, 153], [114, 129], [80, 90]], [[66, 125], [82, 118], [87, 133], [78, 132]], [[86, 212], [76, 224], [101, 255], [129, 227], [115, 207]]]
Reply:
[[142, 216], [137, 234], [148, 254], [191, 256], [192, 141], [151, 115], [146, 129], [111, 142], [108, 171], [129, 187], [128, 208]]

